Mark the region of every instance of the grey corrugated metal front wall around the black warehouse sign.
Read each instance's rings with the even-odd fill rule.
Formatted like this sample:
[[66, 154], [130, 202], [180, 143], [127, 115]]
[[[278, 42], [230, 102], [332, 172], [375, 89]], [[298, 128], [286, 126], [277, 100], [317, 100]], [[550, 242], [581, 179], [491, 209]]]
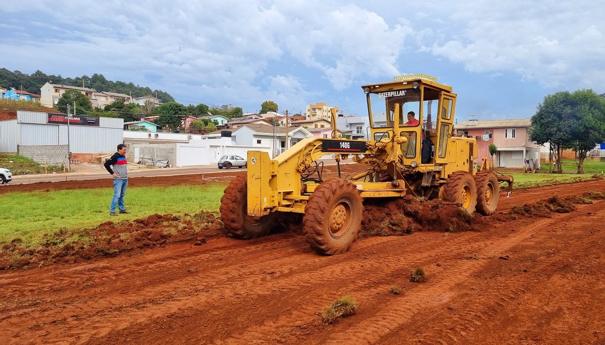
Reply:
[[[65, 145], [67, 144], [67, 124], [47, 123], [47, 113], [18, 111], [20, 138], [13, 139], [19, 145]], [[117, 144], [123, 143], [123, 119], [99, 119], [99, 127], [70, 127], [70, 150], [73, 153], [114, 152]]]

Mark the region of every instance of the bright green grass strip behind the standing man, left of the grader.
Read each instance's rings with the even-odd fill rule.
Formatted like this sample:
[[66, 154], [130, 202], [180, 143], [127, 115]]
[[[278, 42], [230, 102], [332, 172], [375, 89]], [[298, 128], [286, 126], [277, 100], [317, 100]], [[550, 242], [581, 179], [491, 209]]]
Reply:
[[24, 247], [35, 247], [44, 234], [63, 229], [73, 238], [86, 237], [87, 230], [102, 222], [133, 220], [149, 214], [216, 212], [226, 184], [130, 187], [126, 208], [132, 214], [110, 216], [113, 189], [59, 190], [51, 192], [0, 194], [0, 243], [21, 239]]

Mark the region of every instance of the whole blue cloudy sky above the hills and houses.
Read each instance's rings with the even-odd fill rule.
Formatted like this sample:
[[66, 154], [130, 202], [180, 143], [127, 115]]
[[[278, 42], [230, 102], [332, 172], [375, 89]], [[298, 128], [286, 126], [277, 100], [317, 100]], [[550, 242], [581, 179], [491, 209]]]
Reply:
[[359, 87], [425, 73], [459, 121], [531, 117], [557, 91], [605, 92], [605, 2], [29, 1], [0, 7], [0, 67], [103, 74], [185, 105], [365, 115]]

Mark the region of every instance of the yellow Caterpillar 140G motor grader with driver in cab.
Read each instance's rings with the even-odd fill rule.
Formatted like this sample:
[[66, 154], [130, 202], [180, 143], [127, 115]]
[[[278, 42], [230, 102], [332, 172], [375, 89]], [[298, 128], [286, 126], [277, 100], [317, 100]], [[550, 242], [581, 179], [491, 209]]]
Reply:
[[[300, 219], [310, 246], [323, 254], [349, 250], [361, 228], [364, 201], [413, 195], [460, 204], [490, 215], [498, 205], [499, 183], [487, 160], [477, 164], [477, 140], [454, 134], [456, 94], [424, 74], [361, 86], [367, 98], [369, 140], [350, 140], [336, 128], [332, 138], [306, 138], [275, 158], [247, 152], [247, 176], [235, 178], [221, 198], [227, 234], [252, 239], [284, 220]], [[405, 121], [410, 115], [413, 120]], [[418, 117], [417, 119], [415, 117]], [[322, 179], [319, 158], [337, 164], [351, 157], [367, 166], [352, 178]]]

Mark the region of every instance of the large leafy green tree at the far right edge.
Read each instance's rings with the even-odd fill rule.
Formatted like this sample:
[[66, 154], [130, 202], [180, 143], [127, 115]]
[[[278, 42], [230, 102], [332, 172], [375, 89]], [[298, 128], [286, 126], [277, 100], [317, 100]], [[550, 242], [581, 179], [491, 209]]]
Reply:
[[544, 98], [531, 119], [529, 140], [549, 144], [555, 172], [561, 173], [561, 153], [577, 152], [578, 173], [583, 173], [587, 152], [605, 138], [605, 100], [592, 90], [560, 91]]

